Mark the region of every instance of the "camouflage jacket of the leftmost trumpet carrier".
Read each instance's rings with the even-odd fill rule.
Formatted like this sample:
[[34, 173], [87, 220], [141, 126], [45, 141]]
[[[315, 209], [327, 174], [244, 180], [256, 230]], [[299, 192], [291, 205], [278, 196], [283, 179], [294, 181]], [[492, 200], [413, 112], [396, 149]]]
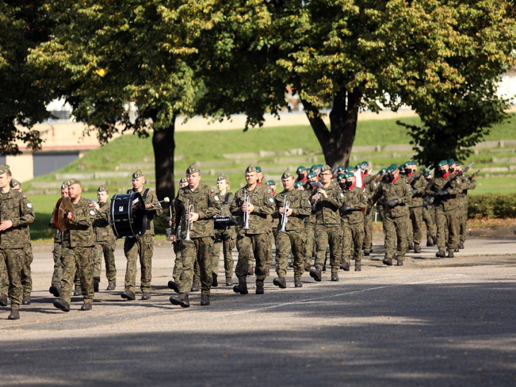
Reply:
[[181, 239], [186, 237], [186, 212], [188, 205], [193, 207], [192, 213], [199, 214], [199, 219], [190, 224], [190, 237], [202, 238], [214, 236], [213, 217], [220, 213], [220, 196], [211, 187], [199, 184], [195, 191], [186, 186], [179, 190], [174, 201], [174, 234], [181, 227]]

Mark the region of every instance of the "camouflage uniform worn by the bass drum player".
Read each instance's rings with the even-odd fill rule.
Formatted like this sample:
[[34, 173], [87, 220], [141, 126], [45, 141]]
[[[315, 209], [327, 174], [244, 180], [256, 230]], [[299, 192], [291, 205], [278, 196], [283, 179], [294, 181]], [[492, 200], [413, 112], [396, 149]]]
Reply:
[[[147, 195], [145, 192], [147, 191]], [[127, 193], [134, 192], [134, 189], [127, 190]], [[144, 203], [156, 203], [158, 198], [154, 195], [154, 192], [149, 188], [143, 188], [142, 196], [145, 196]], [[124, 287], [126, 292], [135, 291], [136, 286], [136, 261], [138, 255], [140, 256], [141, 266], [141, 284], [140, 289], [142, 293], [150, 293], [151, 291], [151, 280], [152, 280], [152, 253], [154, 251], [154, 215], [161, 216], [163, 214], [163, 208], [160, 204], [154, 206], [154, 208], [146, 208], [146, 230], [145, 233], [139, 238], [127, 237], [124, 241], [124, 254], [127, 259], [127, 266], [125, 269], [125, 281]]]

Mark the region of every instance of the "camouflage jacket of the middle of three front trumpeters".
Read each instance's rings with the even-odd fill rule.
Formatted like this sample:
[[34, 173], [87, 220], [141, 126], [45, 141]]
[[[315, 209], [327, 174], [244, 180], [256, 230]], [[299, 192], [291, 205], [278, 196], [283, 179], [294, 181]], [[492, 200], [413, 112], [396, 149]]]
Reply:
[[[249, 197], [250, 203], [254, 205], [254, 211], [249, 214], [249, 230], [244, 230], [244, 213], [241, 208], [244, 204], [244, 192]], [[274, 212], [274, 209], [272, 191], [261, 185], [256, 185], [252, 191], [249, 191], [247, 186], [240, 188], [235, 192], [230, 206], [231, 214], [238, 217], [238, 231], [245, 234], [266, 234], [270, 232], [270, 215]]]

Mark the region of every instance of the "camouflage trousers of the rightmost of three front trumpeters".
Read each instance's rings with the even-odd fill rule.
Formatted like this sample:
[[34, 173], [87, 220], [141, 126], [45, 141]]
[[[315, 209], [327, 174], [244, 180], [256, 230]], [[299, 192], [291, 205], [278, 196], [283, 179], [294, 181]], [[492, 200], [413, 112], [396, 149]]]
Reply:
[[286, 277], [288, 253], [292, 248], [294, 278], [304, 273], [304, 230], [278, 231], [276, 235], [276, 272], [278, 277]]

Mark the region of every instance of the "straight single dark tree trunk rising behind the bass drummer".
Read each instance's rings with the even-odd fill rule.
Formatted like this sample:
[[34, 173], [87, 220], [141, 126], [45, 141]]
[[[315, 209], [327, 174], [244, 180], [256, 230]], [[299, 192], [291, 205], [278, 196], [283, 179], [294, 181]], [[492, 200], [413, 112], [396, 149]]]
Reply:
[[[159, 200], [175, 197], [174, 187], [174, 131], [175, 118], [168, 127], [154, 129], [152, 147], [154, 149], [154, 169], [156, 173], [156, 195]], [[168, 207], [166, 205], [165, 207]]]

